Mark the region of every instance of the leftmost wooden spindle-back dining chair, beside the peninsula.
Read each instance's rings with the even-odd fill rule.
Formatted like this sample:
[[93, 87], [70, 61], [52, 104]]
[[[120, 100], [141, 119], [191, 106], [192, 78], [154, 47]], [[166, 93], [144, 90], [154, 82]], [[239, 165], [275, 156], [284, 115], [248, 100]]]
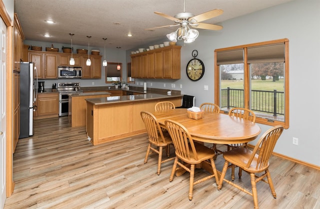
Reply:
[[[158, 153], [158, 168], [157, 168], [157, 174], [160, 174], [160, 168], [161, 168], [161, 163], [173, 160], [174, 157], [167, 158], [162, 160], [162, 150], [163, 148], [166, 148], [166, 155], [167, 157], [170, 156], [170, 144], [172, 144], [172, 140], [168, 132], [162, 132], [162, 129], [160, 128], [160, 125], [154, 115], [150, 112], [147, 111], [141, 111], [140, 112], [141, 118], [144, 122], [146, 132], [148, 134], [148, 148], [145, 153], [144, 157], [144, 164], [147, 162], [150, 149], [153, 150], [154, 152]], [[156, 146], [156, 148], [152, 147]]]

